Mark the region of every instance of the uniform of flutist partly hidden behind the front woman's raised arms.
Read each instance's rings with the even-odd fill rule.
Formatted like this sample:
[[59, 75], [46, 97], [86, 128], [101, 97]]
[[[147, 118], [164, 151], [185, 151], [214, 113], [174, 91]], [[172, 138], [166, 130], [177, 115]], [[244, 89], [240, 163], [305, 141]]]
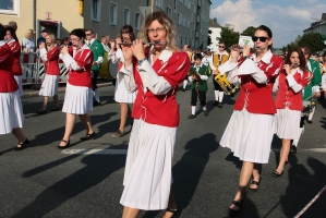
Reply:
[[[108, 61], [112, 63], [119, 62], [118, 71], [119, 72], [124, 64], [124, 58], [121, 49], [118, 49], [113, 53], [108, 53]], [[136, 99], [137, 92], [132, 93], [128, 92], [124, 86], [124, 75], [117, 73], [116, 87], [114, 87], [114, 100], [117, 102], [126, 102], [133, 104]]]

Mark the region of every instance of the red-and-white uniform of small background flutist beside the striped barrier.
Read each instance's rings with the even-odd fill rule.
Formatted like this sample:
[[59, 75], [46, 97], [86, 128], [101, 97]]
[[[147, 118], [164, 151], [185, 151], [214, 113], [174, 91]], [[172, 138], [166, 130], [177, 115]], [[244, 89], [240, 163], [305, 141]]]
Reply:
[[45, 63], [46, 75], [41, 84], [39, 95], [55, 96], [58, 95], [58, 86], [60, 78], [59, 70], [59, 48], [55, 46], [47, 51], [46, 48], [39, 50], [40, 59]]

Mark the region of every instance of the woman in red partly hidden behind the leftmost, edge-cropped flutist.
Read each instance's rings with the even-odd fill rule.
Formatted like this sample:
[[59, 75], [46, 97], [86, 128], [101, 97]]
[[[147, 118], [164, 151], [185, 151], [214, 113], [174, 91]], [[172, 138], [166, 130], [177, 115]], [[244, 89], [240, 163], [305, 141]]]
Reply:
[[21, 59], [21, 45], [20, 41], [15, 40], [16, 38], [16, 34], [15, 34], [15, 29], [10, 27], [10, 26], [5, 26], [5, 36], [4, 39], [7, 41], [7, 44], [9, 45], [11, 51], [13, 52], [13, 64], [12, 64], [12, 73], [14, 75], [14, 78], [17, 82], [19, 85], [19, 94], [22, 97], [23, 96], [23, 84], [22, 84], [22, 76], [23, 76], [23, 72], [22, 72], [22, 66], [20, 63], [20, 59]]

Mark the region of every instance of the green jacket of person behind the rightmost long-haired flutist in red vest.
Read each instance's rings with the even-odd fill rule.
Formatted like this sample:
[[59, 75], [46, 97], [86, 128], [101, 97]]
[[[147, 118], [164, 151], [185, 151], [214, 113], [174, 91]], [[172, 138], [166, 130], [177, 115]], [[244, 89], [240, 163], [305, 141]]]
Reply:
[[302, 95], [303, 100], [307, 99], [310, 96], [313, 95], [313, 86], [319, 86], [321, 83], [322, 83], [322, 74], [321, 74], [318, 62], [313, 60], [313, 59], [309, 59], [309, 62], [310, 62], [311, 68], [312, 68], [313, 78], [305, 86], [305, 88], [303, 90], [303, 95]]

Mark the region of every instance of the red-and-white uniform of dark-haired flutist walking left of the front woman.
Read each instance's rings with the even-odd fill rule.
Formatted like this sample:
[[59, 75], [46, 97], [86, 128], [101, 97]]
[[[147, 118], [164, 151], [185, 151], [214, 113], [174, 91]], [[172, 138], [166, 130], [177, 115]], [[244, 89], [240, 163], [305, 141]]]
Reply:
[[70, 55], [60, 55], [65, 66], [69, 69], [68, 83], [62, 107], [63, 112], [85, 114], [93, 110], [93, 93], [90, 69], [93, 52], [87, 45]]

